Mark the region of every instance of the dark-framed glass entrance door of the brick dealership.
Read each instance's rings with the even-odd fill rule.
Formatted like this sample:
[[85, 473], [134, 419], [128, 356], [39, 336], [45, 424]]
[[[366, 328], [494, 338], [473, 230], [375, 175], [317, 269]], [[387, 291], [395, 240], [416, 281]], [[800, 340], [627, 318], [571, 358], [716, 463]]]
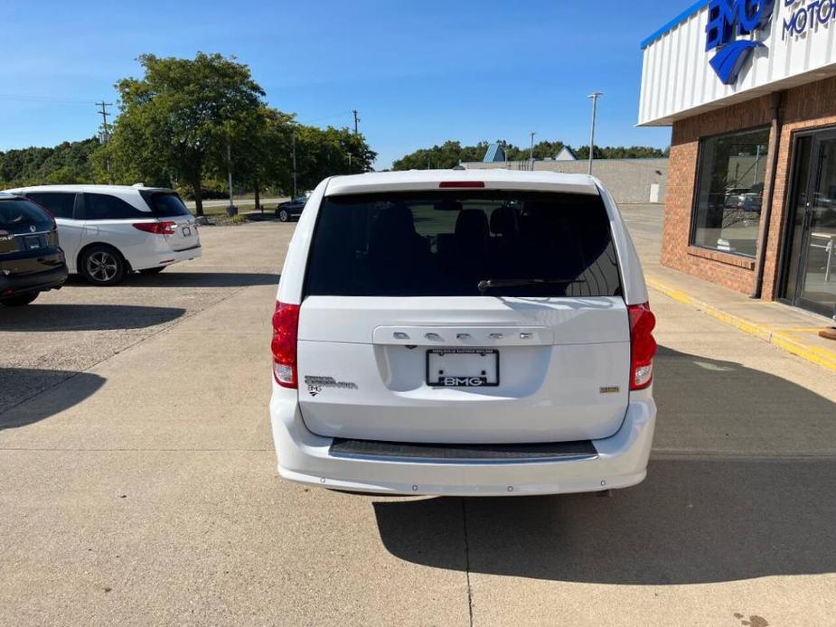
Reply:
[[799, 137], [795, 148], [784, 297], [831, 316], [836, 314], [836, 131]]

